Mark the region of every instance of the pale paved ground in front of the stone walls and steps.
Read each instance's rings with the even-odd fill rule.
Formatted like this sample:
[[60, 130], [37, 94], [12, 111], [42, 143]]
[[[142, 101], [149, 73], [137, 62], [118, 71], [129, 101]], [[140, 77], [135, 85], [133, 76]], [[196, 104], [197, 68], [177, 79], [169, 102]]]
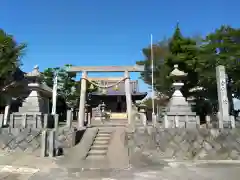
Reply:
[[5, 180], [239, 180], [238, 161], [164, 161], [142, 155], [126, 169], [82, 169], [59, 165], [54, 159], [15, 154], [0, 156]]

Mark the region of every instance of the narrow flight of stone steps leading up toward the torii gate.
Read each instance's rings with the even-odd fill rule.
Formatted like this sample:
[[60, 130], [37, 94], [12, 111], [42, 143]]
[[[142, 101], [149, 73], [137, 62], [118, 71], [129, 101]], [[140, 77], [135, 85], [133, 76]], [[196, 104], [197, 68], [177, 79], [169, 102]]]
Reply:
[[86, 160], [104, 159], [108, 152], [112, 131], [99, 129], [87, 153]]

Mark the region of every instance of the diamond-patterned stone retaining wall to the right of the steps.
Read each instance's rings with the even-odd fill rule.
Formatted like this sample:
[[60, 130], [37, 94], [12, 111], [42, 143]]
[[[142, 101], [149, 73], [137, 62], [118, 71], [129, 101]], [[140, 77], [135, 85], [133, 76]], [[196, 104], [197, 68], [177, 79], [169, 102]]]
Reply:
[[179, 160], [240, 159], [240, 129], [136, 129], [128, 140], [134, 151]]

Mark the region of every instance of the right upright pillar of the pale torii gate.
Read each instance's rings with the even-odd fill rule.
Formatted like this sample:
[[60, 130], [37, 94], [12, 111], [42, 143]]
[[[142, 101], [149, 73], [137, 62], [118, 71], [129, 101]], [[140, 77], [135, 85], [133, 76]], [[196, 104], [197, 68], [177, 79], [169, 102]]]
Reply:
[[128, 115], [128, 124], [131, 124], [131, 114], [132, 114], [132, 94], [130, 87], [130, 77], [129, 72], [125, 71], [124, 77], [125, 79], [125, 93], [126, 93], [126, 103], [127, 103], [127, 115]]

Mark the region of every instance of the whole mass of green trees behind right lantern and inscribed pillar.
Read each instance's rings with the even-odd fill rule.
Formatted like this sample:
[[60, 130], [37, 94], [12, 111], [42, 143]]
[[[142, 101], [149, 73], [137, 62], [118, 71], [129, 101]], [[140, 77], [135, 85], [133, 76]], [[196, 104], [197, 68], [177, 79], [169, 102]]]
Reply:
[[[151, 53], [150, 47], [143, 49], [145, 59], [137, 64], [145, 65], [141, 78], [151, 85]], [[224, 65], [228, 75], [227, 87], [230, 104], [232, 95], [240, 97], [240, 29], [222, 26], [202, 40], [184, 37], [179, 25], [169, 40], [153, 45], [154, 87], [165, 95], [171, 95], [172, 80], [169, 78], [174, 64], [188, 73], [182, 92], [185, 97], [196, 98], [197, 109], [217, 105], [216, 66]], [[201, 91], [190, 89], [200, 86]], [[206, 101], [207, 99], [207, 101]], [[206, 103], [210, 106], [207, 106]], [[210, 108], [211, 109], [211, 108]], [[207, 109], [209, 110], [209, 108]], [[207, 111], [205, 108], [205, 112]]]

